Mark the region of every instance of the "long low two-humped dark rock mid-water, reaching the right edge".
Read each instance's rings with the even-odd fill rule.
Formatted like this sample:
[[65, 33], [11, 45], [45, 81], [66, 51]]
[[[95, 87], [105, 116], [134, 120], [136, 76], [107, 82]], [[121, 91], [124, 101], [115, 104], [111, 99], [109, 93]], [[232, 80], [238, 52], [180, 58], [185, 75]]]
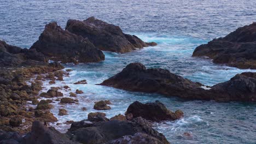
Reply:
[[255, 80], [255, 73], [242, 73], [227, 82], [205, 89], [201, 83], [184, 79], [168, 70], [146, 69], [141, 63], [131, 63], [100, 85], [177, 96], [187, 100], [256, 101]]

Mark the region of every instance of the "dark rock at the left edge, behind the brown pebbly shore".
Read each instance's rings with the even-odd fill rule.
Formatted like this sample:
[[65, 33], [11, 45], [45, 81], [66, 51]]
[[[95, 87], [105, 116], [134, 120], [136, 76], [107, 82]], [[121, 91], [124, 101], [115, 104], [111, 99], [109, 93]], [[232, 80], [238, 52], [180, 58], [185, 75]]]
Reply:
[[0, 66], [24, 66], [27, 64], [43, 64], [47, 58], [36, 50], [21, 49], [0, 40]]

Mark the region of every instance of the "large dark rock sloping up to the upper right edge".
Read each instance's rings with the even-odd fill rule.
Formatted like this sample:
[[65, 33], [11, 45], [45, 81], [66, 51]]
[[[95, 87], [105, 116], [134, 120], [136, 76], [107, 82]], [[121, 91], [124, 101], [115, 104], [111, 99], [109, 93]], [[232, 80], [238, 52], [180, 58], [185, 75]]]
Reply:
[[256, 22], [196, 47], [193, 56], [207, 56], [214, 63], [241, 69], [256, 69]]

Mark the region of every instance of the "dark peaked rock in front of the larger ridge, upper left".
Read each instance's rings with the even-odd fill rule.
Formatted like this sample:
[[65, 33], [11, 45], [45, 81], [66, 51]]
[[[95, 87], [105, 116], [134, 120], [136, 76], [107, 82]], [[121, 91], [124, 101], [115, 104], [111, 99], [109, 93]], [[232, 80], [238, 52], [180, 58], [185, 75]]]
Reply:
[[42, 52], [55, 61], [67, 62], [99, 62], [104, 54], [88, 39], [64, 31], [56, 22], [45, 26], [43, 33], [31, 49]]

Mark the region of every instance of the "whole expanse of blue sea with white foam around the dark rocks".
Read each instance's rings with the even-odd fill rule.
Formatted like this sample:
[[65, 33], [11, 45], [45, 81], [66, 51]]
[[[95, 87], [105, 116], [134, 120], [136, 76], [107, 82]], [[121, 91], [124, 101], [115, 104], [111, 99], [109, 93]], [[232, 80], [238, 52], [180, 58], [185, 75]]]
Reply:
[[[79, 105], [56, 105], [52, 110], [59, 122], [85, 119], [94, 101], [109, 99], [112, 109], [103, 111], [107, 117], [124, 114], [135, 100], [143, 103], [160, 100], [170, 110], [181, 109], [185, 116], [174, 122], [155, 123], [171, 143], [255, 143], [256, 104], [216, 103], [214, 101], [181, 101], [158, 94], [133, 93], [96, 86], [121, 71], [131, 62], [148, 68], [165, 68], [205, 85], [229, 80], [243, 71], [210, 60], [192, 58], [196, 46], [222, 37], [237, 27], [249, 25], [256, 17], [256, 1], [7, 1], [0, 3], [0, 39], [9, 44], [30, 47], [43, 31], [44, 25], [57, 21], [65, 27], [68, 19], [84, 20], [89, 16], [119, 25], [124, 32], [136, 34], [145, 41], [159, 45], [125, 54], [104, 52], [106, 61], [92, 64], [66, 65], [70, 77], [56, 86], [79, 88]], [[86, 79], [88, 85], [72, 85]], [[53, 86], [53, 85], [51, 85]], [[46, 91], [51, 86], [45, 83]], [[68, 97], [68, 92], [63, 91]], [[68, 116], [57, 116], [60, 107]], [[82, 107], [88, 111], [80, 110]], [[68, 125], [57, 129], [65, 131]], [[192, 136], [184, 136], [183, 133]]]

